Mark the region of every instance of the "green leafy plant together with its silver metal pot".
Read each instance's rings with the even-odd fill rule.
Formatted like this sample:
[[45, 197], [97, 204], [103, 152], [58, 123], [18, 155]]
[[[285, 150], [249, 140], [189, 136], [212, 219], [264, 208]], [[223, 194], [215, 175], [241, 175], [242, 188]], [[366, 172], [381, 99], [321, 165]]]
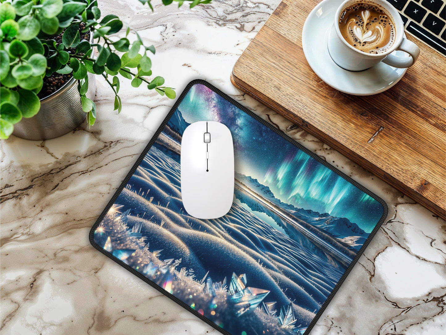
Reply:
[[[120, 76], [133, 87], [170, 99], [173, 88], [152, 76], [150, 53], [135, 31], [116, 15], [101, 17], [95, 0], [0, 0], [0, 138], [15, 134], [48, 139], [66, 134], [87, 117], [96, 119], [95, 75], [102, 75], [122, 109]], [[139, 0], [148, 4], [150, 0]], [[164, 5], [173, 0], [162, 0]], [[184, 0], [175, 0], [180, 7]], [[190, 8], [211, 0], [188, 0]], [[126, 29], [125, 37], [112, 36]], [[98, 54], [94, 57], [93, 47]], [[120, 76], [119, 76], [119, 75]]]

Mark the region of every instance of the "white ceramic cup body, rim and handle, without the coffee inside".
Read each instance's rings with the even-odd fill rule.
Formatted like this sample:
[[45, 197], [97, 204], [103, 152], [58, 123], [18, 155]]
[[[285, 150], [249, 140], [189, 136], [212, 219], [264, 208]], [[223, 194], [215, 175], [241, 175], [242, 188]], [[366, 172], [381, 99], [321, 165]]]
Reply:
[[[339, 29], [339, 17], [341, 11], [353, 4], [374, 4], [384, 10], [392, 17], [395, 24], [395, 41], [392, 47], [379, 54], [369, 54], [351, 46], [342, 36]], [[410, 54], [411, 57], [399, 57], [391, 54], [395, 50], [402, 50]], [[386, 63], [392, 67], [405, 68], [412, 66], [420, 55], [420, 48], [404, 37], [404, 25], [400, 14], [395, 7], [385, 0], [346, 0], [338, 8], [335, 14], [335, 23], [331, 27], [328, 38], [328, 52], [331, 59], [348, 71], [363, 71], [376, 65], [379, 62]]]

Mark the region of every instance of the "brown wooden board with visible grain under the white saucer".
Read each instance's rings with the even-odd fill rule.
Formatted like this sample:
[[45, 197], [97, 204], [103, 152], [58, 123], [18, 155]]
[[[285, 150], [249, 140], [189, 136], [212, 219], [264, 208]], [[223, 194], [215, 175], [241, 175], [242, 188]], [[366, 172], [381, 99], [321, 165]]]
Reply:
[[407, 34], [421, 55], [398, 84], [373, 96], [339, 92], [302, 50], [318, 2], [283, 0], [235, 63], [232, 84], [445, 219], [446, 59]]

